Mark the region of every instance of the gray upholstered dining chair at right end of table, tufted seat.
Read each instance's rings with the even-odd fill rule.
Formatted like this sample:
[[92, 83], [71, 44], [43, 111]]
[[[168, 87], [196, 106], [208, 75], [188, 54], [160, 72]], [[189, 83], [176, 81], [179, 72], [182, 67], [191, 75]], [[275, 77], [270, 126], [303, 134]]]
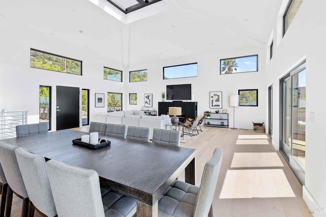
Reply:
[[205, 164], [200, 187], [175, 180], [158, 201], [158, 216], [213, 216], [212, 201], [218, 181], [223, 149], [215, 148]]

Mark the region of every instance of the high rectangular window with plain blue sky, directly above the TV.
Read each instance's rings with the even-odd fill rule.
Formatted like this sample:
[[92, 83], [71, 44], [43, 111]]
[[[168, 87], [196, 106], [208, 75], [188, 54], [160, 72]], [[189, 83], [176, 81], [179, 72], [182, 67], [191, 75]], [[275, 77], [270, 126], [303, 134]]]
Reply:
[[197, 63], [163, 67], [163, 79], [197, 77]]

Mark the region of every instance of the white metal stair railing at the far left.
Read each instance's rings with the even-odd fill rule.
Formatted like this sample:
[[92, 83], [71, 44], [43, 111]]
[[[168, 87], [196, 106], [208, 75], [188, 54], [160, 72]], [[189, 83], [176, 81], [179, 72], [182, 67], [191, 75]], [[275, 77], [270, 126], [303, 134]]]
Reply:
[[0, 139], [16, 137], [16, 126], [27, 124], [28, 111], [0, 110]]

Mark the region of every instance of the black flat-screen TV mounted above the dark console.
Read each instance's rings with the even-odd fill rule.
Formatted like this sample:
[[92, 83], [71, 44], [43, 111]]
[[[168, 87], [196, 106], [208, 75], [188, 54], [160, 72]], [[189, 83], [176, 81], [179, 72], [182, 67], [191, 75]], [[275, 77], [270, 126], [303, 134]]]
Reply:
[[192, 85], [178, 84], [167, 85], [167, 100], [191, 100]]

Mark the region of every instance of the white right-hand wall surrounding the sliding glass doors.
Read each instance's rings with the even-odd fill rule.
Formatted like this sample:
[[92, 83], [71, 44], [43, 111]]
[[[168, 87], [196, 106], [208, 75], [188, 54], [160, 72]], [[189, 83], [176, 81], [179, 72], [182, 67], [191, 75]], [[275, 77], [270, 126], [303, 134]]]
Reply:
[[[326, 145], [323, 138], [326, 129], [323, 94], [326, 81], [326, 14], [324, 8], [326, 8], [325, 1], [304, 1], [283, 39], [279, 37], [282, 30], [280, 20], [283, 14], [275, 15], [275, 22], [270, 29], [274, 29], [275, 52], [266, 66], [266, 85], [270, 83], [274, 85], [273, 140], [279, 145], [279, 79], [301, 60], [305, 58], [307, 60], [305, 187], [320, 207], [326, 207], [326, 173], [324, 172]], [[277, 43], [275, 43], [276, 40]]]

